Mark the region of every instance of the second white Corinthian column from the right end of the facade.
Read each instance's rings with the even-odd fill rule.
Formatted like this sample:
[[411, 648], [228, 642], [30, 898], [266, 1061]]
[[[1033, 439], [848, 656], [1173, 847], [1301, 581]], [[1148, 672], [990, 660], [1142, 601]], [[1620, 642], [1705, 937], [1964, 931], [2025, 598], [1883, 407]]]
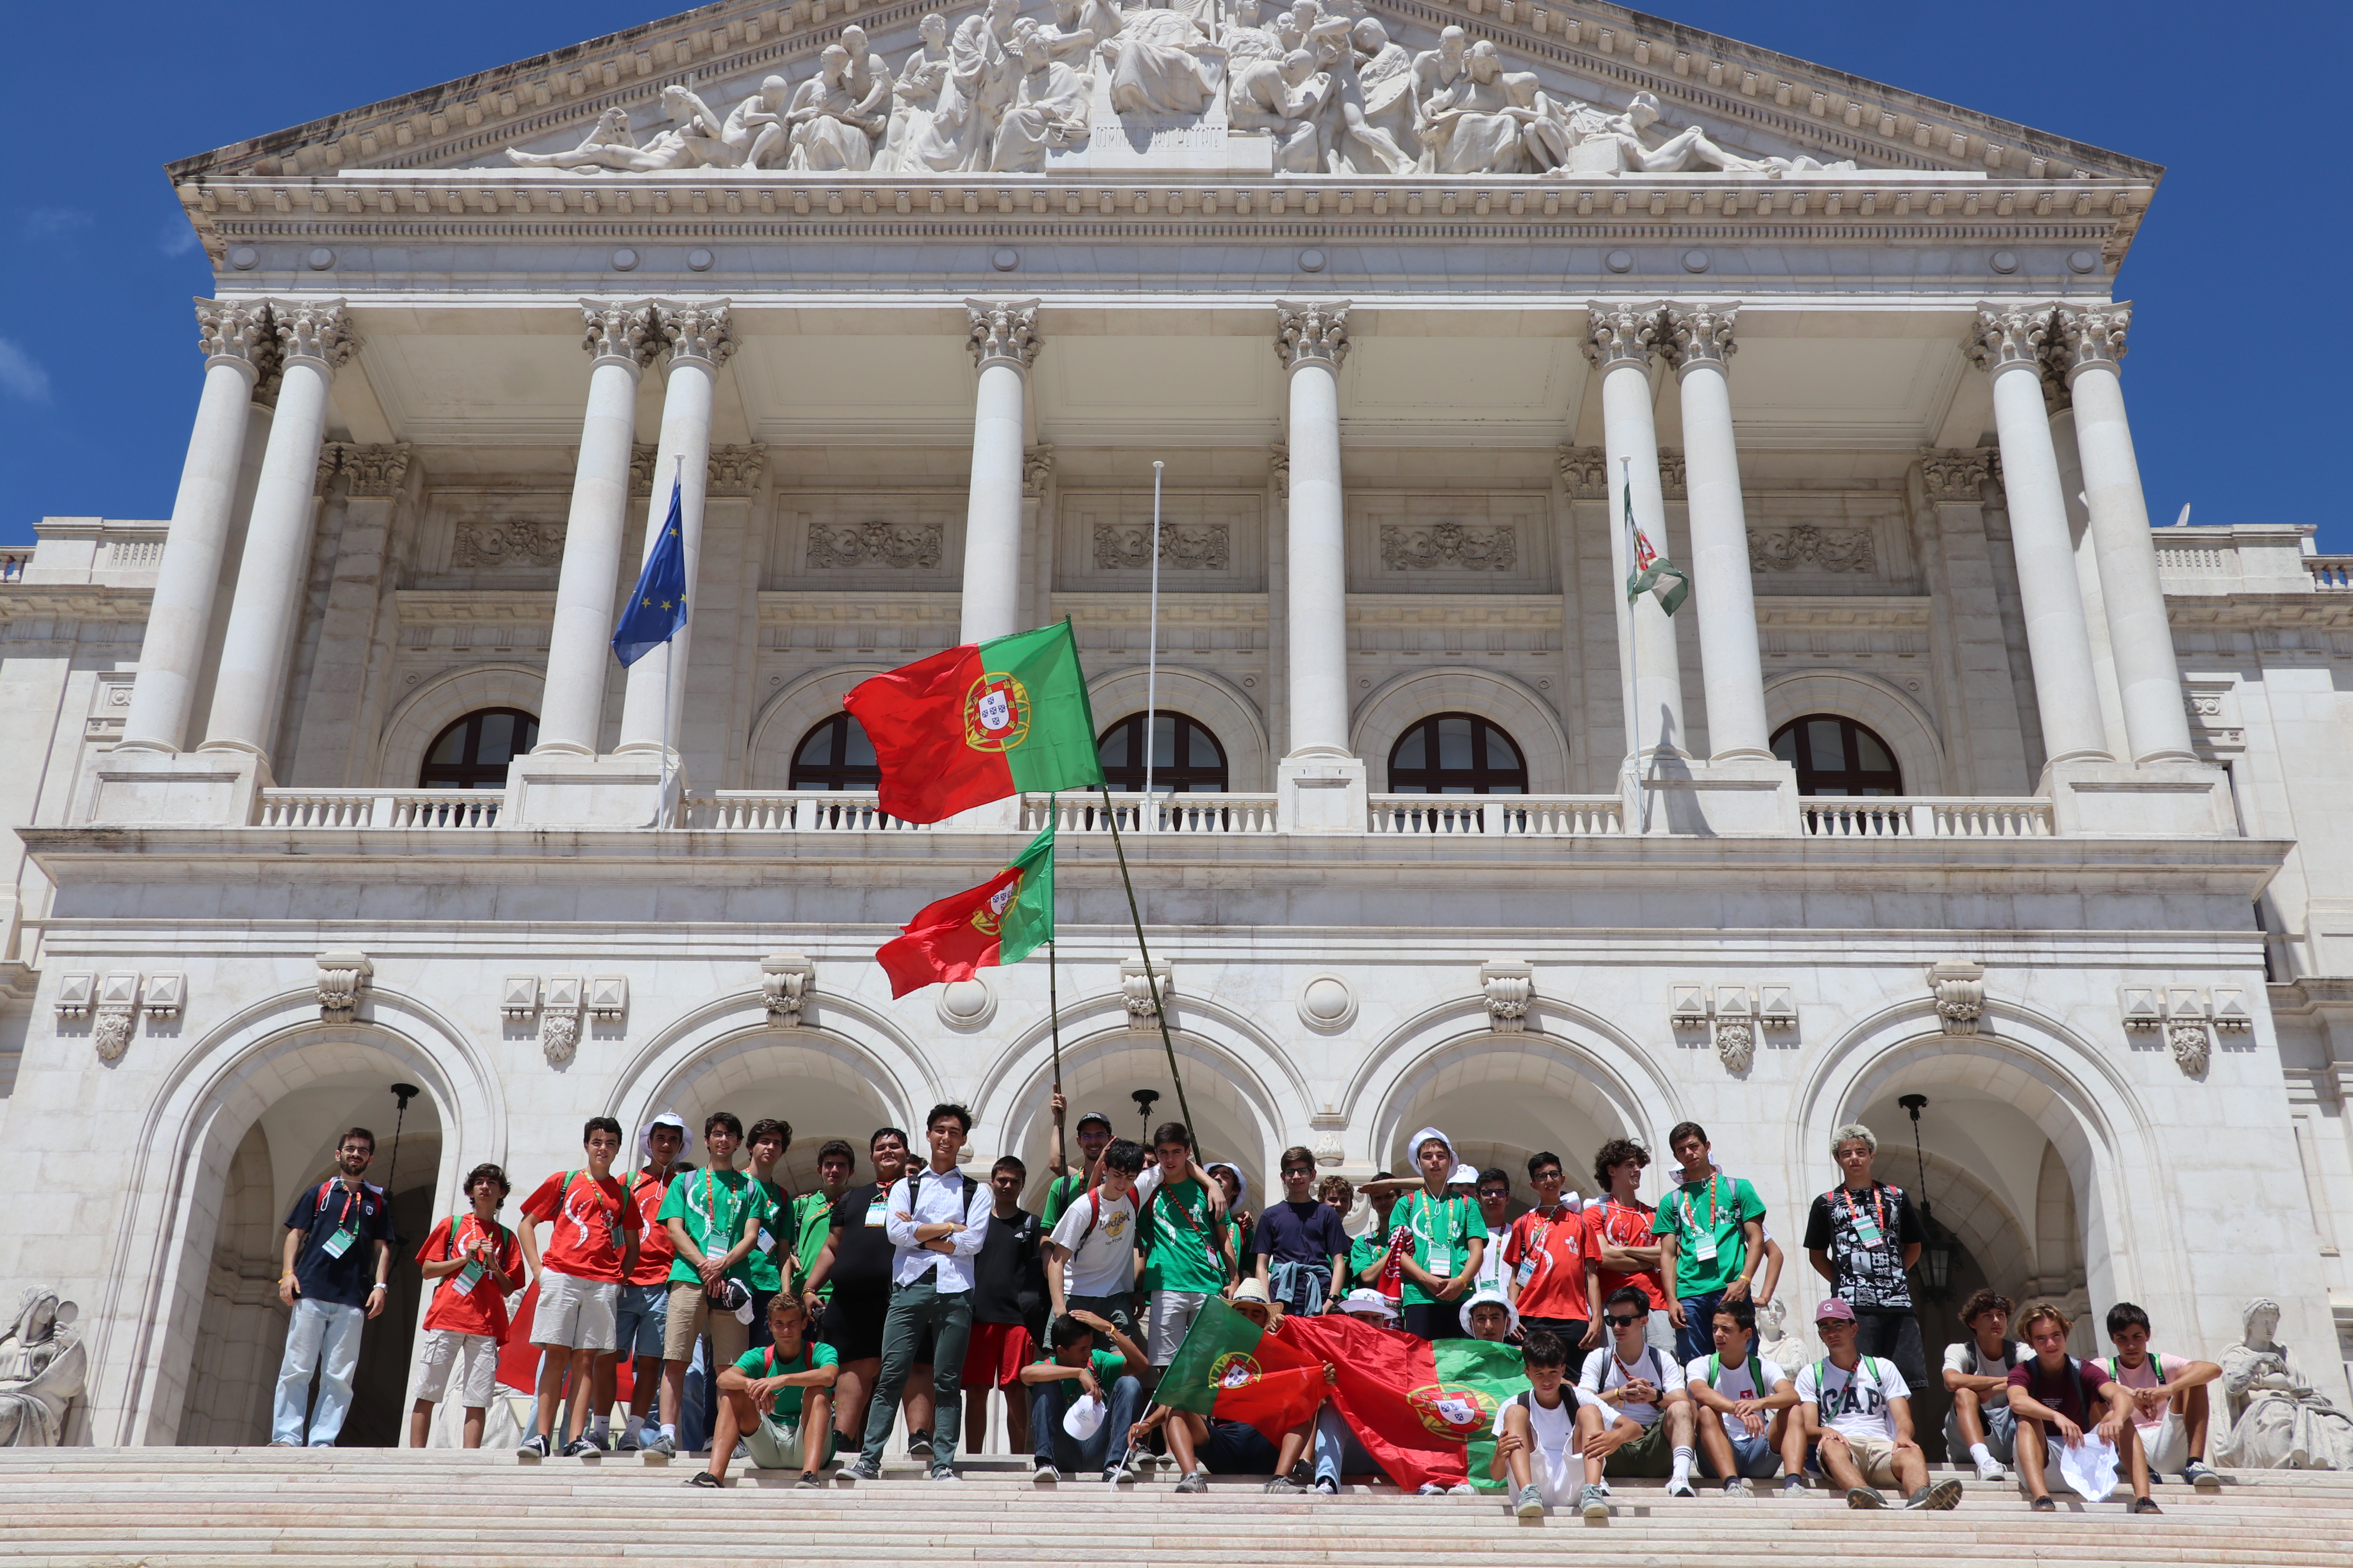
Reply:
[[2059, 454], [2042, 411], [2042, 346], [2049, 306], [1986, 306], [1977, 313], [1969, 357], [1993, 376], [1993, 428], [2002, 442], [2002, 489], [2009, 496], [2009, 548], [2019, 562], [2026, 651], [2035, 665], [2035, 712], [2042, 755], [2052, 762], [2106, 762], [2092, 639], [2075, 588]]

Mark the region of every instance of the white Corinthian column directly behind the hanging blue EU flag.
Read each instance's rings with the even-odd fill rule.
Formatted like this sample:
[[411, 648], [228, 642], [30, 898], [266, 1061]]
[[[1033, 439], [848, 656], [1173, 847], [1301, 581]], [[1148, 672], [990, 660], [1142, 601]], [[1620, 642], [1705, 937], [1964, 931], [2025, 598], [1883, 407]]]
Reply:
[[[696, 306], [659, 301], [654, 329], [671, 346], [671, 378], [661, 395], [654, 494], [645, 503], [645, 555], [652, 555], [654, 545], [661, 543], [661, 524], [671, 517], [671, 482], [675, 480], [680, 543], [687, 555], [687, 625], [628, 668], [628, 689], [621, 696], [621, 743], [614, 750], [659, 755], [678, 745], [678, 726], [687, 703], [687, 639], [694, 635], [699, 599], [694, 569], [704, 559], [704, 491], [711, 487], [711, 404], [718, 397], [720, 367], [734, 355], [736, 341], [727, 301]], [[605, 614], [612, 614], [612, 599], [605, 599]]]

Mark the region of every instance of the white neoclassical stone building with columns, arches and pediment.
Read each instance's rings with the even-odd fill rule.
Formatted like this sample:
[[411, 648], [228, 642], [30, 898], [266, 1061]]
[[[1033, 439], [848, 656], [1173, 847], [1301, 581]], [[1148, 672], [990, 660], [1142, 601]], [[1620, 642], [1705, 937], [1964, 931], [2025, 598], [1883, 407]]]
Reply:
[[[1802, 1312], [1864, 1119], [1932, 1345], [1991, 1281], [2212, 1354], [2261, 1291], [2341, 1392], [2353, 588], [2151, 529], [2160, 169], [1584, 0], [722, 0], [169, 174], [172, 515], [0, 583], [0, 1281], [85, 1307], [78, 1441], [259, 1441], [353, 1121], [416, 1234], [591, 1114], [781, 1114], [805, 1180], [960, 1098], [1042, 1175], [1047, 966], [871, 954], [1049, 806], [880, 818], [840, 698], [1064, 616], [1254, 1192], [1694, 1117]], [[624, 672], [673, 484], [689, 630]], [[1134, 1128], [1059, 811], [1061, 1077]]]

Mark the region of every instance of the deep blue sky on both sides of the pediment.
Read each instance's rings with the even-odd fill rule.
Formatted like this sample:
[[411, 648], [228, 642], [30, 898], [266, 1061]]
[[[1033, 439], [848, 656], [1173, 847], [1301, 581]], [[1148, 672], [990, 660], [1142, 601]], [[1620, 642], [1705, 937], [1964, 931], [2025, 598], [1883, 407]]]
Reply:
[[[962, 9], [962, 7], [958, 7]], [[1664, 14], [2167, 167], [2120, 294], [2148, 510], [2313, 522], [2353, 550], [2344, 87], [2353, 7], [2174, 0], [1680, 0]], [[0, 172], [0, 543], [42, 515], [165, 517], [209, 292], [162, 162], [616, 28], [661, 0], [398, 7], [120, 0], [16, 12]], [[2240, 16], [2224, 28], [2221, 19]], [[101, 26], [94, 21], [104, 19]], [[92, 63], [92, 61], [101, 63]], [[2266, 282], [2268, 280], [2268, 282]], [[2313, 320], [2311, 313], [2320, 317]]]

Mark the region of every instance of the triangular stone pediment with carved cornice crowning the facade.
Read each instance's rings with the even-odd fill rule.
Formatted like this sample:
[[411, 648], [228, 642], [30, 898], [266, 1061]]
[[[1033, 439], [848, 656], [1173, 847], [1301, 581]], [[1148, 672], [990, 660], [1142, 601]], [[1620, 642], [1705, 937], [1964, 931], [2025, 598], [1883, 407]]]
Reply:
[[[1118, 14], [1106, 12], [1106, 5], [1108, 0], [1087, 0], [1085, 5], [1024, 0], [1016, 14], [1071, 45], [1087, 16], [1096, 19], [1096, 33], [1104, 31], [1101, 19]], [[1191, 14], [1209, 24], [1202, 33], [1224, 38], [1224, 28], [1238, 26], [1233, 0], [1191, 0]], [[1386, 143], [1339, 129], [1325, 136], [1325, 141], [1341, 141], [1337, 158], [1327, 148], [1299, 153], [1297, 143], [1308, 139], [1306, 132], [1299, 132], [1292, 136], [1292, 167], [1285, 169], [1280, 167], [1282, 150], [1268, 158], [1257, 146], [1268, 136], [1282, 139], [1282, 125], [1275, 125], [1273, 132], [1235, 125], [1231, 127], [1235, 148], [1231, 155], [1202, 155], [1205, 143], [1226, 136], [1224, 125], [1212, 139], [1188, 129], [1184, 115], [1148, 113], [1155, 108], [1151, 103], [1139, 113], [1134, 92], [1127, 94], [1125, 106], [1111, 103], [1115, 92], [1111, 78], [1122, 68], [1122, 80], [1144, 78], [1148, 89], [1155, 80], [1153, 71], [1160, 73], [1160, 80], [1169, 80], [1172, 73], [1174, 78], [1184, 75], [1184, 24], [1155, 24], [1144, 28], [1158, 38], [1144, 40], [1141, 63], [1134, 56], [1113, 61], [1108, 52], [1089, 52], [1082, 42], [1061, 49], [1061, 59], [1075, 61], [1099, 80], [1059, 82], [1064, 89], [1061, 125], [1049, 122], [1040, 141], [1059, 139], [1061, 146], [1040, 148], [1040, 167], [1026, 172], [1127, 179], [1136, 174], [1160, 176], [1162, 172], [1172, 179], [1247, 176], [1254, 172], [1301, 179], [1367, 179], [1414, 172], [1388, 165], [1388, 155], [1379, 150], [1388, 146], [1414, 158], [1424, 174], [1464, 176], [1551, 174], [1553, 179], [1584, 179], [1612, 172], [1694, 172], [1784, 179], [1852, 165], [1859, 172], [1889, 179], [1913, 174], [1991, 176], [2005, 183], [2049, 179], [2146, 186], [2160, 174], [2155, 165], [2118, 153], [1612, 5], [1337, 0], [1327, 9], [1332, 16], [1379, 21], [1391, 45], [1391, 59], [1379, 66], [1369, 63], [1374, 56], [1362, 56], [1365, 73], [1379, 73], [1386, 80], [1360, 89], [1360, 106], [1372, 108], [1374, 115], [1381, 115], [1386, 106]], [[944, 12], [951, 28], [960, 28], [979, 14], [976, 5]], [[402, 99], [216, 148], [169, 165], [169, 174], [176, 183], [191, 186], [240, 176], [318, 179], [362, 169], [424, 174], [480, 167], [487, 172], [513, 169], [511, 150], [534, 160], [569, 155], [569, 167], [586, 162], [595, 174], [621, 181], [631, 179], [628, 165], [635, 162], [656, 165], [645, 169], [649, 174], [713, 167], [711, 160], [725, 160], [727, 148], [718, 146], [713, 153], [675, 146], [680, 141], [678, 125], [682, 118], [692, 122], [694, 115], [682, 110], [682, 101], [666, 89], [687, 87], [694, 101], [711, 110], [713, 122], [741, 120], [732, 110], [760, 94], [769, 78], [781, 78], [786, 85], [784, 94], [776, 94], [784, 103], [819, 106], [824, 94], [816, 89], [826, 87], [816, 80], [824, 71], [821, 52], [840, 42], [845, 26], [859, 26], [871, 52], [889, 71], [904, 75], [906, 61], [922, 49], [922, 16], [925, 7], [920, 5], [866, 5], [845, 12], [840, 5], [821, 0], [795, 0], [795, 5], [727, 0]], [[1141, 7], [1129, 7], [1120, 24], [1134, 28], [1139, 16]], [[1442, 40], [1445, 28], [1461, 28], [1466, 45], [1489, 52], [1485, 71], [1497, 78], [1492, 85], [1464, 78], [1464, 68]], [[1257, 33], [1275, 35], [1273, 52], [1280, 54], [1273, 7], [1266, 7]], [[1158, 47], [1158, 54], [1151, 47]], [[1212, 54], [1217, 66], [1207, 66], [1202, 73], [1207, 87], [1226, 101], [1195, 120], [1224, 122], [1224, 110], [1233, 106], [1233, 82], [1224, 75], [1228, 61], [1217, 47], [1193, 49], [1195, 59]], [[1242, 68], [1264, 54], [1268, 47], [1261, 40], [1242, 40], [1235, 49], [1235, 56], [1245, 61]], [[1421, 113], [1412, 103], [1395, 101], [1400, 92], [1395, 54], [1417, 61], [1421, 71], [1419, 82], [1405, 85], [1405, 92], [1421, 99]], [[1438, 56], [1440, 63], [1421, 66], [1421, 56]], [[1240, 68], [1233, 75], [1240, 75]], [[1045, 75], [1040, 73], [1038, 80], [1042, 82]], [[1334, 99], [1344, 96], [1329, 80], [1315, 80]], [[809, 96], [793, 99], [791, 94], [805, 85], [812, 87]], [[1268, 101], [1282, 94], [1282, 87], [1264, 71], [1257, 87]], [[1308, 89], [1313, 92], [1313, 82]], [[1184, 96], [1186, 85], [1176, 80], [1167, 92]], [[1638, 101], [1654, 103], [1657, 120], [1649, 120], [1647, 110], [1638, 110]], [[1085, 125], [1089, 110], [1092, 127]], [[1482, 118], [1482, 110], [1497, 113]], [[1325, 120], [1339, 125], [1346, 110], [1334, 101], [1322, 113]], [[1042, 110], [1042, 115], [1052, 120], [1052, 113]], [[1628, 125], [1628, 115], [1638, 125]], [[1073, 118], [1080, 122], [1075, 136]], [[1471, 127], [1475, 134], [1449, 143], [1449, 150], [1438, 160], [1442, 167], [1431, 167], [1433, 158], [1421, 146], [1409, 143], [1409, 136], [1426, 122]], [[1513, 122], [1534, 129], [1525, 129], [1513, 143]], [[600, 127], [605, 129], [600, 132]], [[689, 125], [685, 139], [701, 136], [715, 143], [718, 139], [708, 136], [708, 129]], [[1089, 129], [1099, 155], [1087, 155]], [[666, 134], [668, 143], [664, 143]], [[1487, 136], [1487, 141], [1478, 136]], [[645, 158], [607, 158], [598, 150], [619, 141], [654, 150]], [[741, 136], [736, 141], [741, 143]], [[925, 169], [901, 169], [896, 162], [885, 167], [887, 134], [878, 129], [868, 141], [871, 165], [866, 169], [845, 167], [856, 162], [856, 148], [847, 158], [840, 148], [819, 148], [809, 167], [835, 181], [899, 172], [991, 172], [986, 158], [981, 165], [967, 162], [962, 169], [944, 169], [936, 162]], [[579, 153], [584, 146], [586, 155]], [[1075, 155], [1073, 146], [1080, 148]], [[1134, 155], [1120, 148], [1129, 148]], [[1167, 150], [1188, 155], [1172, 158]], [[741, 155], [741, 146], [736, 146], [736, 155]], [[685, 169], [661, 169], [664, 158], [682, 162]], [[1261, 169], [1257, 160], [1268, 160], [1275, 167]], [[760, 167], [784, 172], [779, 167], [784, 162], [776, 139], [772, 139]], [[1337, 174], [1334, 162], [1339, 165]]]

